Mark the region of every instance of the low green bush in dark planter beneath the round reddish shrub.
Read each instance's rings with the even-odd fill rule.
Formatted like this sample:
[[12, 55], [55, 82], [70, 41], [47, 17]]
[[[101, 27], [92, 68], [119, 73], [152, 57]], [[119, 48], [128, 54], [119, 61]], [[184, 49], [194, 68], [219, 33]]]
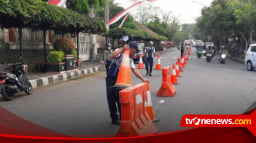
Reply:
[[62, 51], [51, 51], [47, 57], [46, 72], [61, 72], [65, 70], [65, 62], [63, 61], [64, 53]]

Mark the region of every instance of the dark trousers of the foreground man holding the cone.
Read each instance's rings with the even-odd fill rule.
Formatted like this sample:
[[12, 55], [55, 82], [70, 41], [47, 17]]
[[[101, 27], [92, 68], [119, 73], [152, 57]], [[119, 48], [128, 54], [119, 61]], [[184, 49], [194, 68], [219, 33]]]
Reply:
[[[111, 88], [111, 86], [115, 85], [116, 78], [106, 77], [106, 98], [108, 99], [110, 117], [112, 121], [119, 120], [118, 112], [121, 120], [121, 104], [119, 102], [119, 91], [117, 89]], [[116, 108], [116, 103], [118, 108]]]

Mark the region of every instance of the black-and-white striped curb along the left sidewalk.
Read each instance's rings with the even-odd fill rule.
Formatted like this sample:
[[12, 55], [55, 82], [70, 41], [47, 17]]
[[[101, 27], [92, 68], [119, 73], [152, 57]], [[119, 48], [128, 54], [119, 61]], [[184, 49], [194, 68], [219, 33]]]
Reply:
[[82, 77], [82, 76], [85, 76], [88, 74], [97, 73], [101, 69], [102, 69], [102, 66], [96, 66], [96, 67], [92, 67], [92, 68], [86, 68], [86, 69], [80, 69], [77, 71], [72, 71], [70, 73], [42, 77], [42, 78], [33, 79], [33, 80], [29, 80], [29, 81], [33, 88], [38, 88], [38, 87], [53, 85], [53, 84], [57, 84], [62, 81], [67, 81], [70, 79]]

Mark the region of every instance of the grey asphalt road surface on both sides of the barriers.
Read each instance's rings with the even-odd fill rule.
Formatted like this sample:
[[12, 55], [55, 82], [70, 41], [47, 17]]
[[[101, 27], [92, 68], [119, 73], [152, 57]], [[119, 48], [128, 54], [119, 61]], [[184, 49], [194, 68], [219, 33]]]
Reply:
[[[161, 65], [172, 66], [180, 52], [174, 48], [161, 55]], [[215, 56], [218, 57], [218, 56]], [[154, 59], [154, 67], [157, 59]], [[137, 66], [137, 64], [136, 64]], [[146, 77], [145, 69], [139, 69]], [[180, 120], [185, 114], [242, 114], [256, 101], [256, 71], [228, 59], [225, 65], [217, 58], [207, 63], [197, 58], [195, 48], [174, 97], [156, 97], [162, 85], [162, 70], [146, 77], [158, 132], [185, 129]], [[141, 83], [133, 74], [132, 85]], [[37, 125], [66, 135], [115, 135], [119, 126], [111, 124], [105, 94], [105, 72], [61, 84], [37, 88], [30, 96], [19, 93], [9, 102], [0, 98], [0, 106]]]

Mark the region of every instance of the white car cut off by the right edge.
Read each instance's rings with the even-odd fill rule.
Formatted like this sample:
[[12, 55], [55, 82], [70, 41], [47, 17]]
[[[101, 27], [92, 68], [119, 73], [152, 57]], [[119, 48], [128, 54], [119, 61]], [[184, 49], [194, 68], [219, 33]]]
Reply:
[[248, 70], [253, 70], [256, 67], [256, 44], [251, 44], [246, 52], [246, 58], [244, 58], [244, 64]]

